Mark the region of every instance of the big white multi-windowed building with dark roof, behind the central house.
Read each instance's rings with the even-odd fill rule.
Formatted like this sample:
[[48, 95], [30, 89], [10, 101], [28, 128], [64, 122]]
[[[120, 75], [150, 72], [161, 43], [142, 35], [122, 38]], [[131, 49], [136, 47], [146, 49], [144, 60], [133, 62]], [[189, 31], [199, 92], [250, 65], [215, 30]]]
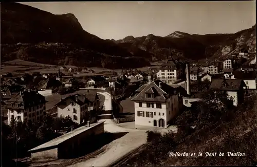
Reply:
[[185, 68], [185, 63], [181, 60], [167, 60], [156, 75], [161, 81], [172, 84], [185, 75]]

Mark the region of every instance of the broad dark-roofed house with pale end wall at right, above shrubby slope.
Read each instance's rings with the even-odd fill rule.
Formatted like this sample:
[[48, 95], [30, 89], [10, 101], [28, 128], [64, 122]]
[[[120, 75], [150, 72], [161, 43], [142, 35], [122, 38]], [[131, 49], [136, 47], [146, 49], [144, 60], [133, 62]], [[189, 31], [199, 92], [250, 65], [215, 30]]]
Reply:
[[244, 101], [245, 82], [242, 79], [213, 79], [210, 89], [213, 91], [224, 92], [228, 97], [232, 97], [233, 105]]

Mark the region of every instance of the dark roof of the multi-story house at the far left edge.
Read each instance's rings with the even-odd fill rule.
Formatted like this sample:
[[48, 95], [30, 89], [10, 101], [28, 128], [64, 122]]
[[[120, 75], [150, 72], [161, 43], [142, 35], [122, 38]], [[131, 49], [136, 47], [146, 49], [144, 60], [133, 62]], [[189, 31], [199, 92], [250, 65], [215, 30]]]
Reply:
[[[7, 108], [9, 109], [25, 109], [31, 106], [38, 106], [46, 102], [45, 97], [35, 91], [24, 91], [22, 94], [17, 93], [10, 100], [7, 101]], [[18, 104], [23, 104], [18, 107]], [[14, 104], [14, 106], [12, 106]]]

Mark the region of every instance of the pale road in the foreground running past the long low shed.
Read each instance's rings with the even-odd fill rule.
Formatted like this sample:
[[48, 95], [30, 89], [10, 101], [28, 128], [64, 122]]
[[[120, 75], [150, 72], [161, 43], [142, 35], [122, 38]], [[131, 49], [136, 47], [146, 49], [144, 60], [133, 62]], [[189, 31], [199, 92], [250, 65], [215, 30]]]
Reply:
[[146, 130], [122, 128], [117, 126], [112, 120], [104, 122], [104, 130], [112, 133], [128, 133], [109, 143], [105, 152], [71, 166], [108, 166], [146, 142]]

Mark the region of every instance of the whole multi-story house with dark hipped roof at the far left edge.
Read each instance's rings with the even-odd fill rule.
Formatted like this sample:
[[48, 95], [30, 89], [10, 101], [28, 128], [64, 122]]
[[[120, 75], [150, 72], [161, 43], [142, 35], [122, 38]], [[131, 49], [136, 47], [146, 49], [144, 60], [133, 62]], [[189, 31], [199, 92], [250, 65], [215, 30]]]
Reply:
[[7, 101], [8, 123], [12, 119], [22, 122], [41, 121], [45, 113], [45, 97], [37, 91], [24, 91]]

